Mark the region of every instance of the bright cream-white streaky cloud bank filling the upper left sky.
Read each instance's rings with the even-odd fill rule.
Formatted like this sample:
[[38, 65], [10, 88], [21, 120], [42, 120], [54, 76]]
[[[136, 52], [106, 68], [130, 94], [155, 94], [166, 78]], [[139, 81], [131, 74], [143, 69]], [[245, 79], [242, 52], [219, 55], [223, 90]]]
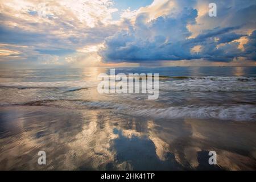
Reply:
[[[111, 22], [116, 11], [112, 5], [108, 0], [0, 2], [0, 43], [19, 52], [15, 60], [19, 56], [27, 63], [57, 63], [43, 60], [55, 60], [52, 57], [56, 56], [64, 60], [82, 47], [104, 42], [117, 31], [117, 25]], [[6, 48], [0, 45], [0, 49]], [[7, 61], [6, 56], [0, 55], [0, 60]], [[14, 55], [9, 55], [10, 60]]]

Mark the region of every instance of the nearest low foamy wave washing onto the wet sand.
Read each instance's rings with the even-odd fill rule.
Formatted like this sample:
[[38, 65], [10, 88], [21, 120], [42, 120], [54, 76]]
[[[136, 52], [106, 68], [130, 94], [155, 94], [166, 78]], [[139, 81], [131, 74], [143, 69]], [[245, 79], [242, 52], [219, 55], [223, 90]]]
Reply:
[[[154, 105], [122, 104], [110, 101], [88, 100], [39, 100], [10, 104], [23, 106], [52, 106], [64, 109], [112, 109], [114, 112], [155, 119], [221, 119], [232, 121], [256, 121], [254, 104], [186, 105], [159, 107]], [[2, 105], [2, 106], [6, 106]]]

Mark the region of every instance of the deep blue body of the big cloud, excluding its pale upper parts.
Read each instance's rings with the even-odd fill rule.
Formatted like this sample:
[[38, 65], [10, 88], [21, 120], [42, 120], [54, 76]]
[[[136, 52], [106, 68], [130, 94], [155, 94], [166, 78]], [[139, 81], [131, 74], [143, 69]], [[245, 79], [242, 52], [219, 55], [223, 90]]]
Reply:
[[[217, 27], [188, 39], [191, 32], [187, 29], [187, 23], [193, 23], [197, 12], [184, 11], [179, 19], [160, 16], [149, 23], [143, 22], [145, 15], [139, 16], [133, 29], [120, 31], [106, 39], [106, 48], [101, 50], [101, 55], [106, 61], [130, 62], [184, 59], [230, 61], [239, 56], [239, 43], [231, 42], [245, 35], [226, 33], [238, 27]], [[226, 44], [218, 47], [220, 43]], [[195, 46], [200, 46], [200, 51], [191, 51]]]

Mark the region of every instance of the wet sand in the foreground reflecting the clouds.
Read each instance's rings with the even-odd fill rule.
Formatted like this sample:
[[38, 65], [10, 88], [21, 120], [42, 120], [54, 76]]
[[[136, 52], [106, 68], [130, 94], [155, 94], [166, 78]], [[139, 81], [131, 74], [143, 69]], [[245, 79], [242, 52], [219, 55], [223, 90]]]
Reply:
[[[256, 123], [1, 106], [1, 170], [255, 170]], [[38, 152], [46, 151], [46, 165]], [[208, 152], [217, 152], [217, 165]]]

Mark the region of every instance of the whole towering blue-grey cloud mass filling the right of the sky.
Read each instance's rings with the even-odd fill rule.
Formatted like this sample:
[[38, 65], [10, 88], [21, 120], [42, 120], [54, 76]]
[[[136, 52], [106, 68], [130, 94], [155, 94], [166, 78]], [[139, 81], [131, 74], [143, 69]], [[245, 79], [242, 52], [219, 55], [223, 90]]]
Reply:
[[[155, 8], [153, 7], [154, 3]], [[218, 1], [217, 7], [220, 8], [218, 17], [211, 18], [208, 16], [208, 11], [201, 13], [199, 17], [196, 9], [198, 4], [195, 1], [189, 3], [165, 1], [164, 4], [170, 7], [170, 11], [168, 13], [163, 11], [164, 13], [161, 15], [159, 13], [157, 18], [152, 19], [150, 14], [152, 9], [165, 9], [163, 3], [159, 1], [154, 3], [138, 10], [135, 19], [131, 19], [129, 28], [124, 28], [105, 39], [105, 48], [100, 52], [103, 60], [140, 63], [193, 59], [228, 62], [241, 56], [246, 59], [255, 59], [255, 47], [252, 43], [249, 41], [243, 51], [238, 41], [249, 35], [249, 28], [254, 28], [251, 23], [256, 19], [256, 16], [253, 16], [255, 5], [251, 5], [251, 2], [245, 6], [238, 1], [225, 3]], [[208, 8], [208, 5], [205, 8]], [[233, 19], [237, 17], [237, 14], [242, 17], [238, 18], [238, 21]], [[250, 18], [246, 18], [244, 14]], [[229, 16], [224, 17], [227, 15]], [[228, 23], [225, 23], [227, 20]], [[208, 28], [205, 27], [205, 23], [209, 23], [207, 21], [212, 22]], [[212, 27], [213, 25], [216, 27]], [[197, 36], [189, 26], [198, 28]], [[249, 39], [254, 40], [252, 35]], [[196, 46], [200, 47], [199, 51], [193, 51]]]

